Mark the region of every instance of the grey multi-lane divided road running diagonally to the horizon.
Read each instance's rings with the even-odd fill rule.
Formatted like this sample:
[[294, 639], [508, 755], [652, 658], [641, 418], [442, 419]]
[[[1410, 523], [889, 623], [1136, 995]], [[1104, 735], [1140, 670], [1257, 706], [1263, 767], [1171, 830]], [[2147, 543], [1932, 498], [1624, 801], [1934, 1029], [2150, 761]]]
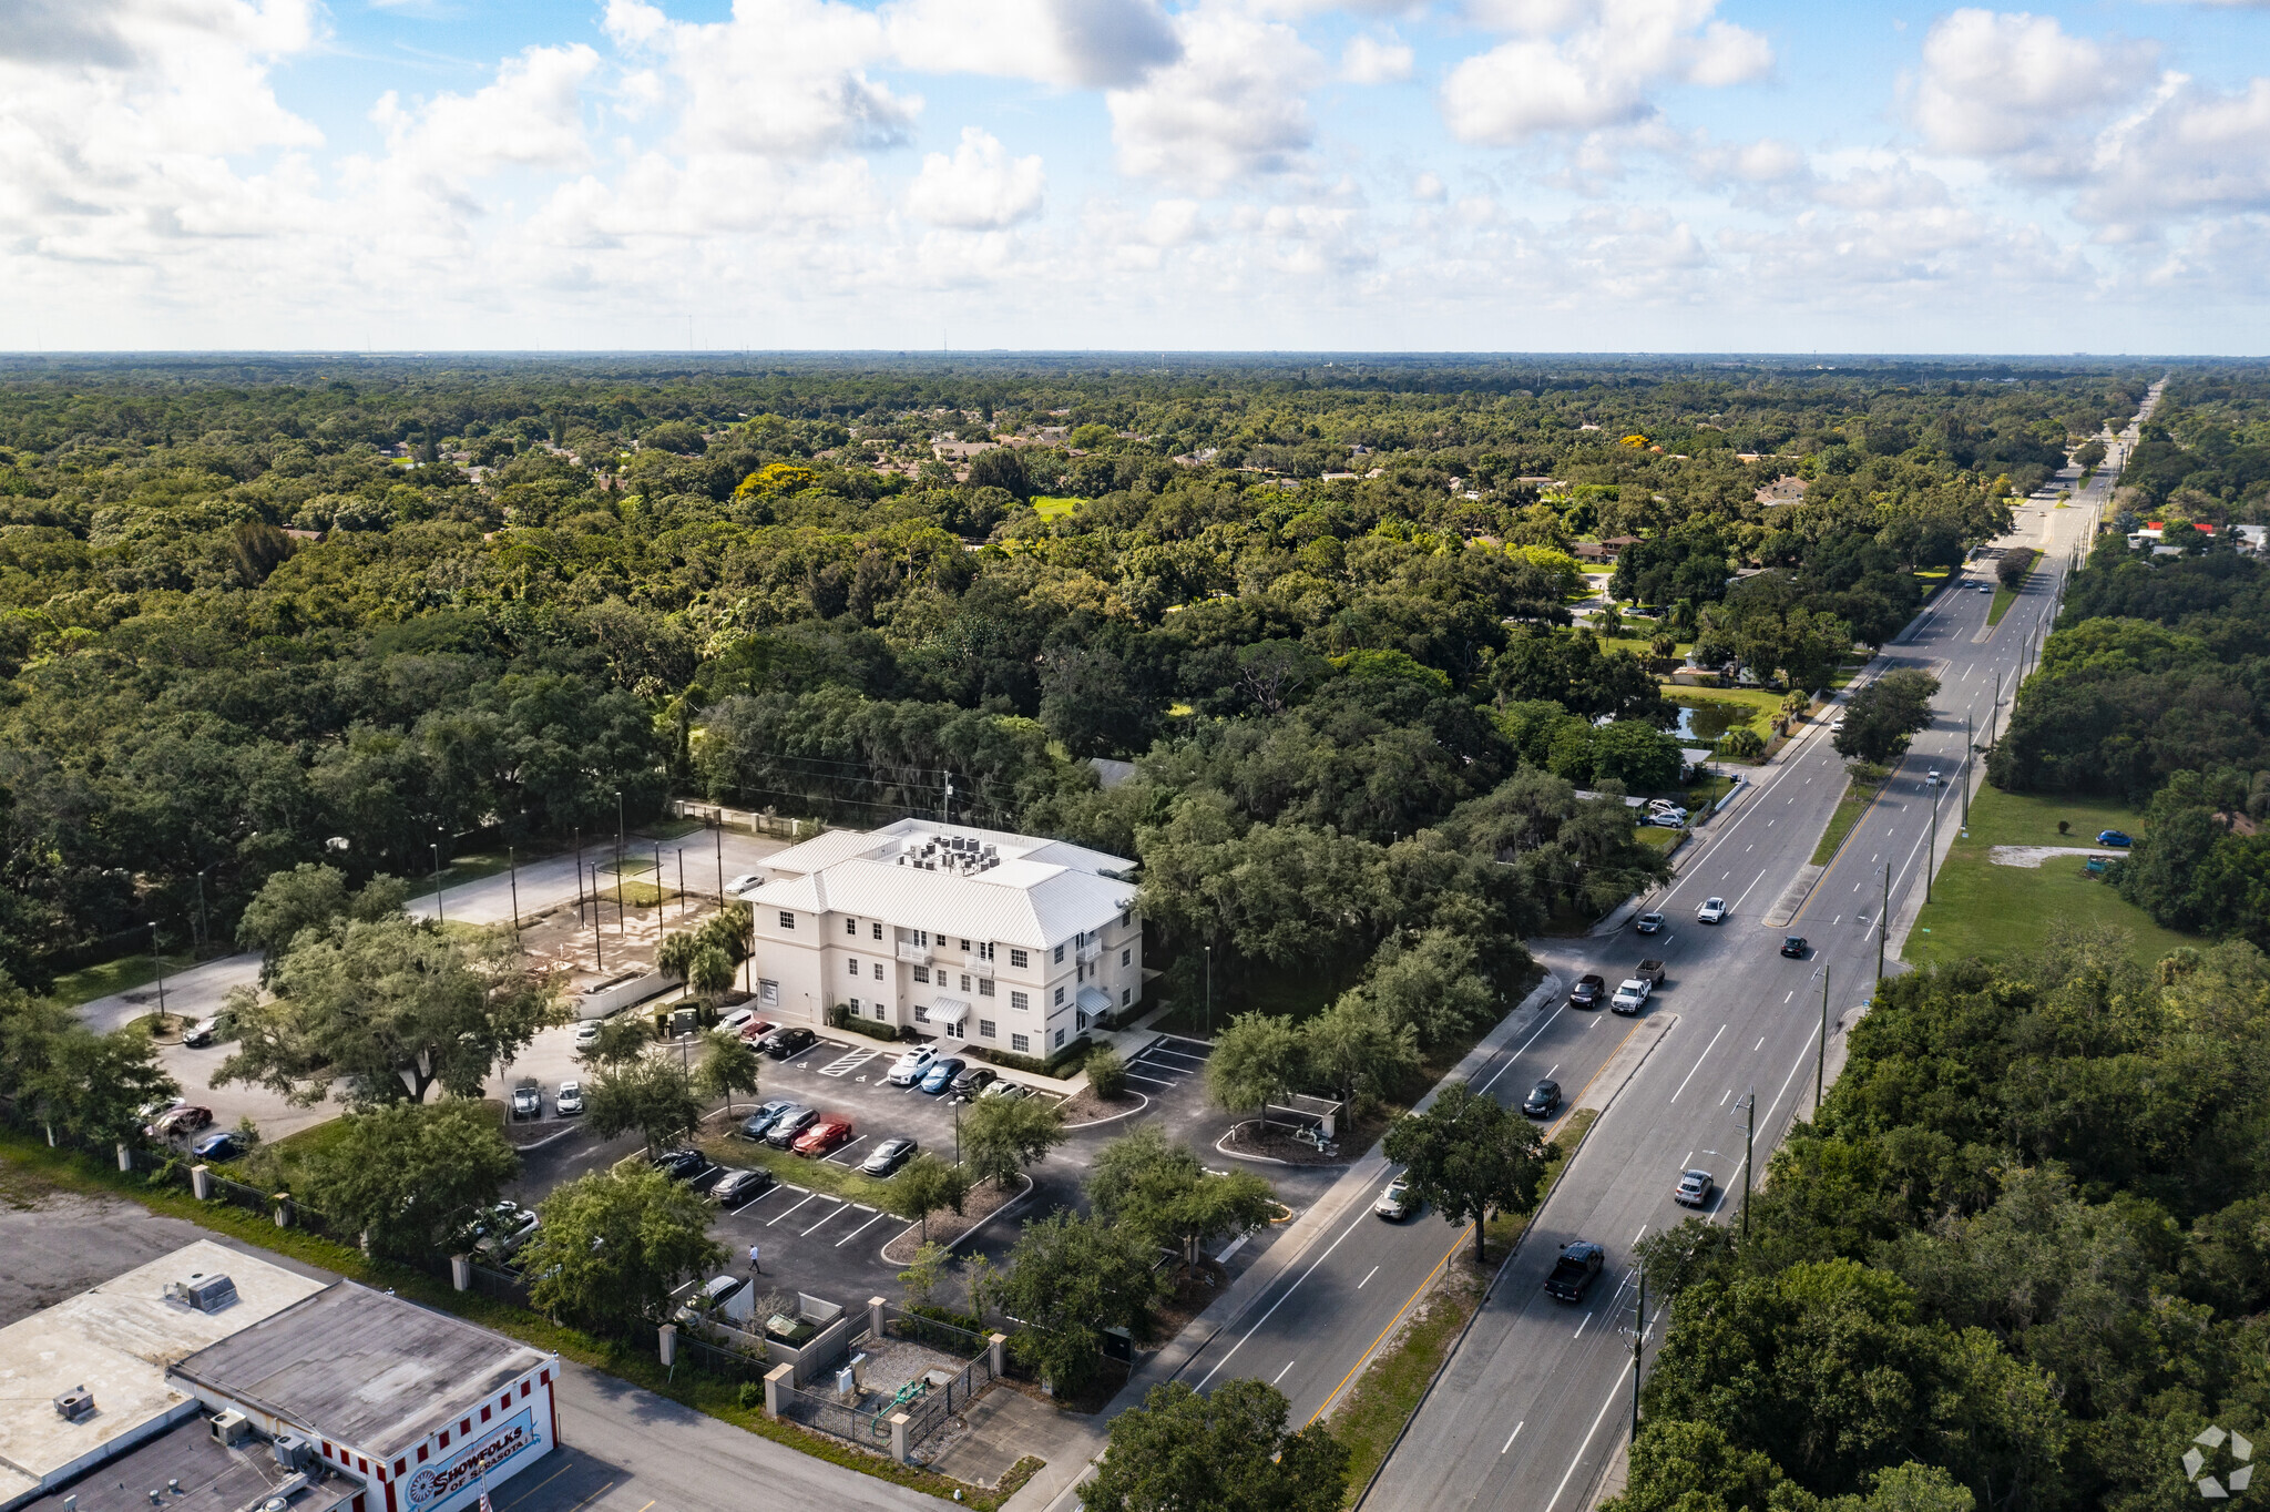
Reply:
[[[1759, 1165], [1800, 1110], [1809, 1110], [1823, 1049], [1823, 990], [1832, 1033], [1841, 1033], [1834, 1022], [1866, 1001], [1875, 981], [1886, 867], [1891, 954], [1898, 951], [1902, 906], [1911, 915], [1911, 901], [1920, 899], [1934, 808], [1943, 851], [1959, 824], [1957, 783], [1975, 781], [1975, 763], [1966, 765], [1966, 717], [1979, 742], [1998, 692], [2007, 717], [2020, 663], [2038, 656], [2068, 558], [2086, 545], [2109, 502], [2120, 452], [2125, 447], [2113, 445], [2104, 470], [2070, 504], [2057, 506], [2054, 493], [2077, 488], [2075, 470], [2050, 486], [2050, 497], [2036, 495], [2018, 511], [2013, 531], [1998, 545], [2038, 547], [2043, 561], [2000, 624], [1986, 624], [1993, 595], [1979, 593], [1993, 581], [1989, 554], [1939, 593], [1868, 667], [1868, 677], [1893, 667], [1927, 670], [1941, 679], [1941, 692], [1932, 726], [1916, 736], [1882, 797], [1827, 865], [1811, 865], [1814, 847], [1846, 790], [1846, 774], [1825, 729], [1814, 724], [1705, 826], [1678, 879], [1646, 899], [1646, 908], [1668, 915], [1662, 935], [1648, 940], [1625, 929], [1539, 949], [1562, 983], [1582, 972], [1600, 972], [1614, 983], [1639, 956], [1662, 956], [1668, 978], [1648, 1013], [1671, 1024], [1630, 1081], [1614, 1090], [1369, 1489], [1367, 1510], [1569, 1512], [1584, 1505], [1630, 1433], [1632, 1246], [1687, 1217], [1671, 1201], [1687, 1167], [1718, 1178], [1712, 1221], [1739, 1221], [1748, 1099], [1755, 1097]], [[1707, 897], [1732, 904], [1723, 924], [1696, 919]], [[1780, 954], [1786, 933], [1811, 942], [1805, 958]], [[1612, 1092], [1591, 1081], [1634, 1022], [1573, 1010], [1566, 994], [1555, 992], [1510, 1031], [1496, 1035], [1498, 1049], [1482, 1056], [1478, 1069], [1469, 1067], [1473, 1083], [1514, 1101], [1550, 1076], [1580, 1090], [1569, 1099], [1575, 1108], [1598, 1106]], [[1385, 1176], [1378, 1160], [1357, 1167], [1357, 1178]], [[1591, 1240], [1609, 1253], [1607, 1271], [1578, 1308], [1541, 1292], [1569, 1240]], [[1428, 1215], [1394, 1226], [1357, 1203], [1319, 1230], [1308, 1251], [1178, 1374], [1201, 1389], [1258, 1376], [1287, 1394], [1294, 1421], [1323, 1414], [1460, 1242], [1471, 1246], [1462, 1230]], [[1657, 1314], [1650, 1335], [1659, 1335], [1653, 1301], [1650, 1312]]]

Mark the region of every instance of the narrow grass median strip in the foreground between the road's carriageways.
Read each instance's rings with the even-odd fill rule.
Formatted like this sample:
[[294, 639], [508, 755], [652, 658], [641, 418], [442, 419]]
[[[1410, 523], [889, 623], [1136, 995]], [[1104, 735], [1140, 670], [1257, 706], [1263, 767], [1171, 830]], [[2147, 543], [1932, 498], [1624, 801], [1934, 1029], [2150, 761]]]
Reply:
[[[1559, 1133], [1553, 1135], [1546, 1178], [1537, 1192], [1539, 1208], [1553, 1194], [1553, 1185], [1569, 1169], [1569, 1160], [1598, 1117], [1598, 1108], [1578, 1108], [1562, 1124]], [[1451, 1358], [1460, 1335], [1466, 1330], [1466, 1321], [1482, 1305], [1489, 1278], [1528, 1221], [1530, 1215], [1525, 1212], [1500, 1212], [1489, 1219], [1485, 1233], [1491, 1260], [1487, 1267], [1473, 1265], [1473, 1240], [1466, 1230], [1460, 1230], [1444, 1255], [1444, 1265], [1423, 1287], [1423, 1296], [1405, 1314], [1401, 1333], [1364, 1367], [1364, 1374], [1348, 1394], [1339, 1398], [1339, 1410], [1332, 1412], [1328, 1426], [1332, 1437], [1348, 1446], [1351, 1503], [1371, 1485], [1371, 1478], [1394, 1451], [1403, 1426], [1419, 1410], [1419, 1403], [1426, 1401], [1428, 1385], [1441, 1371], [1444, 1360]]]

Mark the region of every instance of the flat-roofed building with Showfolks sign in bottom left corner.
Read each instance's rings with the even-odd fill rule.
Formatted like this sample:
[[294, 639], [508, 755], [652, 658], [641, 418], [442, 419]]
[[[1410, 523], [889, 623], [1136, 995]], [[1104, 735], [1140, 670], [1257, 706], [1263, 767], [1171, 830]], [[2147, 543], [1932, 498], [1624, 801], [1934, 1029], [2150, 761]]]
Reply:
[[[152, 1317], [127, 1371], [104, 1339]], [[32, 1358], [23, 1385], [70, 1385], [16, 1396]], [[556, 1374], [390, 1292], [191, 1244], [0, 1330], [0, 1512], [459, 1512], [554, 1448]]]

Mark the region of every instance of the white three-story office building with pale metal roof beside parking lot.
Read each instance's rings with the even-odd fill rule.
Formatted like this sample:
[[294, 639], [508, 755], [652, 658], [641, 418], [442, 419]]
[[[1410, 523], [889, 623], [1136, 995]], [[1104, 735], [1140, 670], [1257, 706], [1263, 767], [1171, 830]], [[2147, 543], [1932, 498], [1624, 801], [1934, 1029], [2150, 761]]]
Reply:
[[1133, 860], [1062, 840], [899, 820], [772, 856], [754, 913], [756, 1008], [1049, 1056], [1142, 997]]

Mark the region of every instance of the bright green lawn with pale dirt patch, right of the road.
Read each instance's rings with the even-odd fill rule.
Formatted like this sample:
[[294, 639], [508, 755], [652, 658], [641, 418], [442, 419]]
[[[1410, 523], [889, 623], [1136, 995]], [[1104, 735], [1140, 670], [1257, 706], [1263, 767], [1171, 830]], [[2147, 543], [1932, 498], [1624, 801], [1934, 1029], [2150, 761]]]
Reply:
[[[2068, 833], [2057, 833], [2057, 822]], [[1970, 833], [1957, 835], [1948, 865], [1932, 883], [1902, 956], [1911, 965], [1941, 965], [1966, 956], [1998, 958], [2038, 951], [2057, 924], [2113, 924], [2136, 940], [2136, 960], [2156, 963], [2197, 935], [2161, 929], [2122, 899], [2100, 876], [2082, 870], [2082, 858], [2059, 858], [2027, 867], [1998, 867], [1986, 854], [1995, 845], [2093, 845], [2100, 829], [2141, 833], [2143, 820], [2118, 799], [2041, 797], [1982, 788], [1970, 799]]]

